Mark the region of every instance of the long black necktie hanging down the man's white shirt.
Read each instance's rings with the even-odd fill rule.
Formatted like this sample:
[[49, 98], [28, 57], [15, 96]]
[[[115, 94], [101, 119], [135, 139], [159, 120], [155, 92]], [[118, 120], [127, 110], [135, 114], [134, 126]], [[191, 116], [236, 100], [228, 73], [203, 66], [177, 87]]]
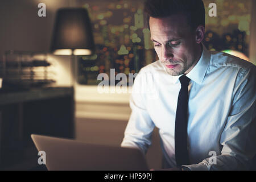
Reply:
[[183, 75], [179, 78], [181, 89], [177, 101], [175, 119], [175, 158], [177, 167], [189, 164], [187, 149], [187, 120], [188, 120], [188, 82], [190, 79]]

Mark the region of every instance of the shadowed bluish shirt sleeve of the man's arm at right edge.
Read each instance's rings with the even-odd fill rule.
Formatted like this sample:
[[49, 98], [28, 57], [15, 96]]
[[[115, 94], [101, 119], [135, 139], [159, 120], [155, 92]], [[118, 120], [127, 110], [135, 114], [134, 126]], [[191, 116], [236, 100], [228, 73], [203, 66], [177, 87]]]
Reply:
[[233, 102], [220, 136], [221, 155], [188, 165], [191, 170], [247, 170], [256, 154], [255, 66], [241, 69], [233, 91]]

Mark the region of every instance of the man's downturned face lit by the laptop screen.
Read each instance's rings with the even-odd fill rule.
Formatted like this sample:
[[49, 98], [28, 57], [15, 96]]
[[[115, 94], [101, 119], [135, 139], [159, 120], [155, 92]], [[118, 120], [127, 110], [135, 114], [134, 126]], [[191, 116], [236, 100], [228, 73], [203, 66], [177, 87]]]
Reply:
[[151, 40], [160, 61], [172, 76], [187, 74], [195, 66], [196, 33], [191, 31], [185, 15], [167, 18], [150, 17]]

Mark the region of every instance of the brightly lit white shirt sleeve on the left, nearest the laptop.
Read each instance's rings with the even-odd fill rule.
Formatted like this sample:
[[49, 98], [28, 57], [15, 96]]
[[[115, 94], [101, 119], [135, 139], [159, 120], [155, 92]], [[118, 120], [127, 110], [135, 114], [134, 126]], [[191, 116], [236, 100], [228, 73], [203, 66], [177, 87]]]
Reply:
[[131, 115], [125, 129], [125, 137], [121, 143], [121, 147], [139, 148], [144, 154], [151, 146], [152, 131], [155, 127], [146, 109], [146, 82], [142, 71], [139, 72], [132, 88]]

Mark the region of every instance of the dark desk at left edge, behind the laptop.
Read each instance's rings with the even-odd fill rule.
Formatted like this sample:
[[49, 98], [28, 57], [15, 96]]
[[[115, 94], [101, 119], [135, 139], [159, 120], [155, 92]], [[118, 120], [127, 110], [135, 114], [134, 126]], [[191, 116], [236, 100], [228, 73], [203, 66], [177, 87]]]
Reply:
[[29, 169], [22, 160], [38, 158], [32, 133], [75, 137], [73, 93], [73, 88], [0, 90], [1, 169]]

